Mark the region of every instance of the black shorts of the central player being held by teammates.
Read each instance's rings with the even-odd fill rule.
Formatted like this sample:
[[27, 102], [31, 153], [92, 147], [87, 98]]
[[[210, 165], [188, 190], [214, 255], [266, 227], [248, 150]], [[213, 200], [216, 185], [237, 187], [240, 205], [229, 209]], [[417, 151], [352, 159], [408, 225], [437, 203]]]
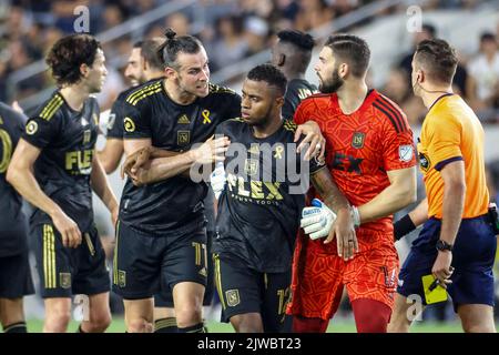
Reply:
[[289, 301], [291, 267], [284, 273], [261, 273], [235, 257], [214, 254], [215, 285], [222, 303], [222, 322], [245, 313], [262, 315], [264, 332], [283, 331]]

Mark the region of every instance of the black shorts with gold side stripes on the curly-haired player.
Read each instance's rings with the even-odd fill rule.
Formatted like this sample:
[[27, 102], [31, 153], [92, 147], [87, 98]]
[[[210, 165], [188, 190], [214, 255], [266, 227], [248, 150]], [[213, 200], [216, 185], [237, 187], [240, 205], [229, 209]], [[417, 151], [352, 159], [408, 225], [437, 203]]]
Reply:
[[82, 231], [78, 247], [62, 245], [61, 234], [51, 223], [33, 225], [31, 233], [43, 298], [110, 291], [105, 254], [95, 225]]

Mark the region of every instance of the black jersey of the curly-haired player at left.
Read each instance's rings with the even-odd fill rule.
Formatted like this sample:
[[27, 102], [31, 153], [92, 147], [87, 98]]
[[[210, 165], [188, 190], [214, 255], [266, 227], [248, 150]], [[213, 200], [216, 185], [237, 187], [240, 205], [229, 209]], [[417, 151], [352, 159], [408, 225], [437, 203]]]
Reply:
[[[41, 149], [34, 175], [52, 199], [81, 231], [93, 221], [90, 174], [99, 126], [99, 105], [94, 98], [78, 112], [59, 91], [28, 121], [22, 138]], [[31, 223], [49, 223], [50, 216], [35, 209]]]

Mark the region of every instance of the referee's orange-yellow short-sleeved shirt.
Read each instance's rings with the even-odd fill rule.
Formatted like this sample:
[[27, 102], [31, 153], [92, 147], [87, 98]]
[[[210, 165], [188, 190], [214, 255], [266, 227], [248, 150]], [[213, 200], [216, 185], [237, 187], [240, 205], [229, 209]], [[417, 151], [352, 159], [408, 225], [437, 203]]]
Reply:
[[483, 128], [473, 111], [456, 94], [441, 97], [425, 118], [418, 143], [419, 168], [428, 197], [428, 216], [441, 219], [444, 180], [448, 163], [465, 162], [464, 219], [487, 213], [489, 193], [483, 161]]

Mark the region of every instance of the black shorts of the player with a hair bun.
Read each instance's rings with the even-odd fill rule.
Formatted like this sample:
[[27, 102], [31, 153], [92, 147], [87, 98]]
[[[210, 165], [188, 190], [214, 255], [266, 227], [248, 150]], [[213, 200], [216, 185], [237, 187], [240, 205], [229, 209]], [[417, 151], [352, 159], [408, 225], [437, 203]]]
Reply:
[[124, 223], [116, 227], [113, 291], [125, 300], [141, 300], [173, 290], [177, 283], [206, 285], [206, 231], [149, 236]]

